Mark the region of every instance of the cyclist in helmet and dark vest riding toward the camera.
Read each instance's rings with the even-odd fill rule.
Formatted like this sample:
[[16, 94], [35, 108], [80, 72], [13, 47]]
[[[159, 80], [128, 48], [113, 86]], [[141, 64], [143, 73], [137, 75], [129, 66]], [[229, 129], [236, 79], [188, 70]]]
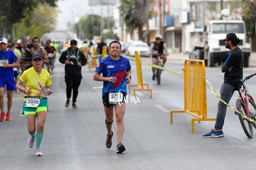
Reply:
[[[158, 56], [160, 56], [160, 59], [163, 59], [163, 66], [164, 66], [169, 53], [168, 53], [166, 43], [164, 43], [164, 41], [161, 41], [162, 37], [163, 36], [161, 36], [160, 34], [155, 36], [156, 41], [154, 41], [150, 45], [150, 56], [152, 56], [152, 64], [157, 64]], [[163, 49], [165, 50], [166, 54], [163, 54]], [[152, 67], [152, 71], [153, 71], [152, 80], [155, 80], [155, 67]]]

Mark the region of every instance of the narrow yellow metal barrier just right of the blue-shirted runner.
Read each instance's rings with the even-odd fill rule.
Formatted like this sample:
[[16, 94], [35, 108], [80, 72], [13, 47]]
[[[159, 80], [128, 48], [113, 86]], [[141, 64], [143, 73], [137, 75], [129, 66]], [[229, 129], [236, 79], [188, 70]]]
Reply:
[[[134, 96], [135, 91], [150, 91], [150, 98], [152, 98], [152, 89], [148, 88], [148, 84], [143, 84], [142, 80], [142, 67], [140, 65], [140, 52], [135, 51], [135, 62], [136, 62], [136, 69], [137, 69], [137, 80], [138, 84], [136, 85], [129, 85], [129, 93], [130, 93], [130, 87], [139, 87], [139, 89], [134, 89]], [[147, 86], [147, 88], [143, 88], [143, 86]]]

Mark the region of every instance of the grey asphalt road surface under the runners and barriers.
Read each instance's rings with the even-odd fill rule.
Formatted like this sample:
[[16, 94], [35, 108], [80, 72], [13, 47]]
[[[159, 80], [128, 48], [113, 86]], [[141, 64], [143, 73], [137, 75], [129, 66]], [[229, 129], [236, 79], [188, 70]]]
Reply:
[[[166, 69], [181, 73], [187, 55], [170, 55]], [[255, 60], [254, 60], [255, 58]], [[244, 75], [256, 72], [256, 55], [252, 55]], [[142, 62], [151, 62], [142, 58]], [[132, 84], [137, 83], [135, 62], [132, 64]], [[207, 67], [207, 79], [220, 91], [223, 74], [220, 66]], [[113, 124], [113, 146], [105, 147], [106, 127], [101, 90], [103, 82], [93, 81], [94, 69], [82, 69], [83, 79], [77, 98], [78, 109], [65, 108], [66, 85], [64, 65], [56, 61], [53, 75], [53, 95], [48, 97], [49, 113], [41, 143], [42, 157], [28, 148], [27, 123], [21, 116], [23, 93], [13, 94], [12, 121], [0, 122], [0, 169], [255, 169], [255, 137], [249, 139], [242, 131], [238, 117], [228, 108], [223, 138], [203, 138], [213, 121], [195, 122], [192, 116], [174, 114], [170, 110], [184, 109], [184, 80], [169, 72], [162, 73], [161, 85], [151, 80], [151, 68], [142, 66], [143, 83], [148, 83], [153, 95], [137, 92], [137, 103], [127, 103], [124, 116], [123, 143], [126, 151], [116, 154], [116, 122]], [[255, 96], [256, 79], [248, 82]], [[129, 94], [128, 98], [132, 96]], [[230, 104], [235, 106], [238, 94]], [[6, 95], [4, 96], [6, 108]], [[216, 117], [218, 99], [207, 88], [208, 117]], [[6, 110], [6, 109], [5, 109]], [[256, 132], [256, 130], [254, 130]], [[255, 133], [254, 133], [255, 135]]]

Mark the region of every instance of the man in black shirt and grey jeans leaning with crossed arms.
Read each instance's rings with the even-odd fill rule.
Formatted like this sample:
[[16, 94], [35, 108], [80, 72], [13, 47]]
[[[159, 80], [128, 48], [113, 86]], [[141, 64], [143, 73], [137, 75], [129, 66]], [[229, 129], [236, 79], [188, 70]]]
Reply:
[[[240, 40], [236, 34], [228, 33], [224, 39], [226, 48], [230, 49], [228, 58], [224, 62], [221, 71], [224, 72], [224, 82], [221, 85], [220, 97], [226, 103], [229, 103], [235, 90], [239, 90], [242, 86], [242, 72], [244, 56], [242, 49], [237, 47]], [[218, 103], [218, 112], [216, 116], [216, 122], [213, 129], [208, 134], [204, 134], [203, 137], [223, 137], [223, 125], [226, 116], [227, 106], [222, 101]]]

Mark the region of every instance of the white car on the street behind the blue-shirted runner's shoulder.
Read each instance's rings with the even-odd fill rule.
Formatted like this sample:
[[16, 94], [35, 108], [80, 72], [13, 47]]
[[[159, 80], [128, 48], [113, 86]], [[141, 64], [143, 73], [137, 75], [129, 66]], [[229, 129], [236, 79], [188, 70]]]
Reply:
[[130, 41], [127, 48], [127, 54], [134, 57], [135, 51], [139, 51], [140, 56], [150, 57], [150, 47], [143, 41]]

